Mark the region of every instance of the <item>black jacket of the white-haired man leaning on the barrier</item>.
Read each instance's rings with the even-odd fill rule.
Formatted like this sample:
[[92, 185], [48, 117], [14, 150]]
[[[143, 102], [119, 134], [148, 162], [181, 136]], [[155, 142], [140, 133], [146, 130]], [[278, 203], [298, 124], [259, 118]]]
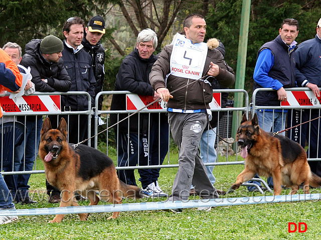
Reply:
[[[152, 96], [154, 90], [149, 83], [148, 75], [155, 61], [156, 56], [153, 54], [149, 59], [142, 59], [139, 56], [138, 50], [135, 48], [122, 61], [116, 76], [114, 90], [126, 90], [139, 95]], [[125, 97], [125, 94], [113, 94], [110, 110], [125, 110]], [[110, 114], [110, 122], [113, 125], [126, 116], [128, 116], [126, 113], [119, 114], [119, 119], [117, 119], [117, 114]], [[140, 113], [139, 119], [139, 133], [146, 134], [148, 129], [148, 113]], [[117, 130], [117, 126], [119, 127], [119, 132], [127, 133], [128, 119], [116, 125], [114, 127], [115, 130]], [[134, 114], [129, 118], [129, 132], [138, 133], [138, 114]]]

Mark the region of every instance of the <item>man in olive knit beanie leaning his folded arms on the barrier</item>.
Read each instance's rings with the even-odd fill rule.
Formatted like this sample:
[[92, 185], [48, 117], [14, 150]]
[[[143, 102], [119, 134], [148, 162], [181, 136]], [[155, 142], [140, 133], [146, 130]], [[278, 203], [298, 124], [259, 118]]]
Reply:
[[[26, 45], [26, 53], [20, 64], [31, 68], [31, 74], [33, 77], [32, 82], [35, 83], [36, 91], [69, 91], [71, 79], [61, 58], [63, 48], [64, 46], [62, 41], [52, 35], [49, 35], [42, 40], [33, 39]], [[18, 117], [18, 121], [25, 123], [25, 117]], [[24, 170], [31, 171], [38, 153], [40, 131], [42, 127], [42, 115], [27, 116], [25, 125], [28, 128], [28, 133], [26, 136]], [[18, 188], [24, 190], [21, 192], [24, 203], [33, 202], [28, 197], [29, 178], [30, 174], [19, 175], [18, 177]], [[53, 191], [52, 195], [50, 195], [51, 191]], [[49, 202], [60, 201], [60, 192], [57, 191], [58, 189], [53, 188], [48, 190]]]

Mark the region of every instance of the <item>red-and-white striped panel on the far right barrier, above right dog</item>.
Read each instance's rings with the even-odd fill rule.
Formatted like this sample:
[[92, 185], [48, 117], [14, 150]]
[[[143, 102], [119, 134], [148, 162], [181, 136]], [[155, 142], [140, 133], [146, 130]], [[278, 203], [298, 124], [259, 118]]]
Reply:
[[314, 96], [312, 91], [286, 91], [287, 101], [281, 106], [319, 106], [321, 97]]

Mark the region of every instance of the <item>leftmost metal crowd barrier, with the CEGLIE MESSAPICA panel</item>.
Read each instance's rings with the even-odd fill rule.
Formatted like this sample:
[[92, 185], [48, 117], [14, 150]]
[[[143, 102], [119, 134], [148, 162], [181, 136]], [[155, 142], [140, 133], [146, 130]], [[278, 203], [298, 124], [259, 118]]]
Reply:
[[[42, 107], [43, 108], [47, 108], [45, 105], [45, 99], [46, 97], [50, 97], [50, 96], [55, 96], [55, 95], [85, 95], [87, 97], [87, 101], [88, 101], [88, 110], [83, 110], [83, 111], [32, 111], [30, 109], [32, 109], [32, 107], [35, 107], [35, 104], [43, 104]], [[6, 95], [5, 97], [8, 97], [9, 95]], [[25, 98], [26, 97], [26, 98]], [[3, 101], [2, 101], [3, 100]], [[55, 100], [53, 100], [55, 102]], [[12, 145], [17, 145], [17, 143], [15, 144], [15, 142], [17, 142], [17, 138], [19, 136], [17, 136], [17, 132], [19, 131], [17, 129], [17, 127], [19, 125], [21, 125], [21, 123], [19, 123], [17, 121], [17, 117], [23, 117], [24, 121], [20, 121], [22, 122], [22, 125], [25, 127], [26, 124], [26, 119], [27, 117], [35, 117], [35, 122], [37, 124], [37, 116], [47, 116], [47, 115], [57, 115], [57, 117], [59, 115], [88, 115], [88, 123], [90, 123], [91, 121], [91, 115], [93, 115], [93, 110], [91, 107], [91, 97], [89, 95], [89, 93], [84, 92], [84, 91], [69, 91], [69, 92], [35, 92], [34, 94], [31, 94], [29, 96], [23, 96], [20, 98], [13, 98], [11, 102], [9, 102], [8, 105], [4, 105], [4, 98], [0, 97], [0, 103], [1, 103], [1, 107], [3, 108], [3, 117], [0, 118], [0, 144], [1, 144], [1, 156], [0, 159], [2, 160], [0, 163], [0, 170], [2, 171], [3, 175], [12, 175], [12, 174], [32, 174], [32, 173], [45, 173], [44, 170], [39, 169], [39, 167], [37, 166], [37, 161], [35, 161], [34, 163], [34, 167], [32, 171], [19, 171], [19, 170], [15, 170], [15, 164], [19, 164], [19, 162], [17, 163], [17, 159], [15, 159], [15, 150], [16, 147], [12, 147]], [[55, 102], [56, 103], [56, 102]], [[33, 106], [32, 106], [33, 104]], [[55, 107], [57, 108], [57, 106], [52, 103], [53, 105], [50, 107]], [[58, 103], [57, 103], [58, 104]], [[50, 109], [50, 107], [48, 107]], [[27, 109], [27, 111], [24, 111], [23, 109], [20, 108], [25, 108]], [[41, 108], [41, 107], [40, 107]], [[40, 110], [40, 108], [38, 110]], [[28, 110], [29, 109], [29, 110]], [[12, 112], [11, 110], [16, 110], [16, 112]], [[62, 110], [62, 109], [61, 109]], [[69, 119], [69, 117], [68, 117]], [[69, 120], [66, 119], [67, 125], [69, 126]], [[11, 123], [12, 127], [8, 128], [6, 127], [8, 125], [8, 123]], [[22, 128], [24, 128], [22, 127]], [[37, 129], [37, 128], [36, 128]], [[41, 128], [40, 128], [41, 129]], [[7, 133], [6, 133], [7, 131]], [[9, 132], [8, 132], [9, 131]], [[25, 128], [23, 129], [22, 132], [22, 147], [24, 149], [24, 152], [26, 151], [26, 141], [28, 141], [28, 139], [26, 139], [26, 134], [27, 134], [28, 129]], [[87, 133], [88, 133], [88, 138], [91, 136], [91, 129], [90, 129], [90, 124], [88, 124], [88, 129], [87, 129]], [[10, 140], [10, 142], [8, 142], [8, 136], [12, 135], [12, 138]], [[21, 136], [20, 136], [21, 137]], [[6, 142], [7, 141], [7, 142]], [[39, 142], [39, 139], [37, 139], [37, 136], [35, 137], [35, 142]], [[90, 143], [89, 143], [90, 144]], [[9, 146], [11, 145], [11, 146]], [[10, 153], [8, 153], [8, 151], [12, 151]], [[35, 159], [38, 155], [37, 152], [37, 148], [35, 148]], [[24, 157], [22, 159], [22, 162], [24, 164], [24, 169], [25, 169], [25, 154]], [[4, 172], [4, 170], [6, 170]]]

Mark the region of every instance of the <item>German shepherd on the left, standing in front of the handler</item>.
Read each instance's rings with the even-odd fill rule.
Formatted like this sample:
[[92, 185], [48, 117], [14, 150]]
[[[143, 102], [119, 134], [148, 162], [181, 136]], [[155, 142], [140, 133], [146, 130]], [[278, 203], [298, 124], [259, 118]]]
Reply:
[[[123, 197], [141, 198], [140, 188], [120, 181], [112, 160], [100, 151], [79, 145], [75, 149], [67, 143], [67, 123], [61, 118], [57, 129], [51, 128], [47, 117], [41, 130], [39, 156], [45, 165], [48, 182], [62, 192], [60, 207], [79, 206], [74, 193], [87, 196], [90, 204], [97, 205], [101, 193], [104, 201], [121, 203]], [[87, 220], [89, 213], [79, 213], [80, 220]], [[117, 218], [119, 212], [113, 212]], [[64, 214], [57, 214], [49, 222], [61, 222]]]

